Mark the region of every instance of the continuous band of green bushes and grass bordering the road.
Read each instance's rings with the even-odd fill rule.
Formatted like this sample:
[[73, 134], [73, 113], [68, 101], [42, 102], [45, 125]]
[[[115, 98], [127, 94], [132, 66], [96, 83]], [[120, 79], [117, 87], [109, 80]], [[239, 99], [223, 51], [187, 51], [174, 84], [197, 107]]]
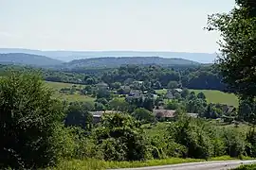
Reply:
[[[137, 121], [135, 113], [145, 111], [139, 109], [104, 114], [96, 125], [87, 105], [52, 98], [53, 93], [39, 76], [9, 73], [1, 78], [0, 89], [1, 153], [8, 158], [1, 161], [2, 169], [74, 169], [93, 167], [95, 161], [96, 165], [102, 163], [102, 167], [135, 167], [210, 161], [226, 155], [254, 157], [256, 153], [254, 128], [242, 131], [237, 127], [220, 127], [189, 117], [183, 110], [177, 111], [170, 123], [154, 120], [149, 124], [151, 119], [146, 117]], [[162, 128], [155, 129], [155, 134], [150, 132], [154, 124]]]

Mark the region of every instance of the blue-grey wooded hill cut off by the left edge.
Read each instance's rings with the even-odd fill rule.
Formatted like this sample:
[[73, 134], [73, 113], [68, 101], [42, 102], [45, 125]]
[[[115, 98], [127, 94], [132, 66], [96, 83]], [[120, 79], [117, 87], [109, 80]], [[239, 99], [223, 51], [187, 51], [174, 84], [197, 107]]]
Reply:
[[0, 54], [0, 63], [2, 64], [21, 64], [33, 66], [50, 66], [62, 64], [63, 61], [51, 59], [45, 56], [24, 54], [24, 53], [9, 53]]

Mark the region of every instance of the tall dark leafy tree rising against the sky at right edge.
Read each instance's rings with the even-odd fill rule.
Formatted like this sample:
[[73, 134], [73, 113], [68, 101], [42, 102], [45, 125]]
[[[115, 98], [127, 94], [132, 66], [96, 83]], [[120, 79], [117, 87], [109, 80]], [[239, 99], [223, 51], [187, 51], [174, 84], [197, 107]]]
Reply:
[[256, 3], [236, 0], [229, 13], [210, 15], [208, 30], [221, 34], [221, 54], [216, 61], [229, 90], [254, 98], [256, 96]]

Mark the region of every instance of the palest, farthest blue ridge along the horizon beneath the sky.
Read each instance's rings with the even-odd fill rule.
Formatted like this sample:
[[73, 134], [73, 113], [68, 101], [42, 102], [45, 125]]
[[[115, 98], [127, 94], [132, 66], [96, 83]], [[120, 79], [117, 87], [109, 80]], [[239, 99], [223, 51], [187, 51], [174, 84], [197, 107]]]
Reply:
[[170, 51], [42, 51], [23, 48], [0, 48], [0, 53], [26, 53], [64, 61], [105, 57], [161, 57], [169, 59], [181, 58], [201, 63], [212, 63], [212, 61], [216, 59], [216, 54]]

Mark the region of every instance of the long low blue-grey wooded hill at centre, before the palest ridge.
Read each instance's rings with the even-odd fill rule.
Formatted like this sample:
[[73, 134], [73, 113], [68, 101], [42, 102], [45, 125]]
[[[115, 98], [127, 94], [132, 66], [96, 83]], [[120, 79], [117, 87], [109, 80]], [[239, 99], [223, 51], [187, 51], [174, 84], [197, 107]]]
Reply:
[[121, 65], [161, 65], [161, 66], [174, 66], [174, 65], [200, 65], [188, 59], [166, 59], [159, 57], [119, 57], [119, 58], [94, 58], [94, 59], [76, 59], [64, 63], [66, 68], [78, 67], [106, 67], [113, 68]]

